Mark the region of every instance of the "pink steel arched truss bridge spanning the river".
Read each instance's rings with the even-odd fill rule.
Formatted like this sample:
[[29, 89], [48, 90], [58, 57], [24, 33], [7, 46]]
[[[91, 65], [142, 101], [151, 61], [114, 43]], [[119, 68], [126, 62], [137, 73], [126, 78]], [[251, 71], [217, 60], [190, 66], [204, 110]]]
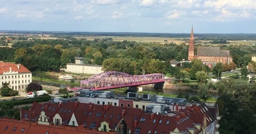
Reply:
[[87, 80], [81, 80], [81, 88], [91, 90], [106, 90], [137, 85], [164, 82], [164, 74], [129, 75], [118, 71], [106, 71], [93, 75]]

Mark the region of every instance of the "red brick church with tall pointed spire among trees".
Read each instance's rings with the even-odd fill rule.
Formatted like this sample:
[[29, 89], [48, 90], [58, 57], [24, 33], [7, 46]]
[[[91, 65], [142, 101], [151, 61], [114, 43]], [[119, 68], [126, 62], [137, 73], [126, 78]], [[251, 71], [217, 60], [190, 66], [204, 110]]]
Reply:
[[189, 42], [189, 54], [188, 60], [192, 61], [192, 59], [201, 59], [201, 61], [208, 65], [209, 67], [214, 66], [216, 63], [232, 63], [233, 59], [230, 54], [230, 50], [221, 50], [220, 47], [203, 47], [199, 46], [197, 50], [197, 54], [194, 54], [194, 32], [193, 26], [190, 34], [190, 42]]

